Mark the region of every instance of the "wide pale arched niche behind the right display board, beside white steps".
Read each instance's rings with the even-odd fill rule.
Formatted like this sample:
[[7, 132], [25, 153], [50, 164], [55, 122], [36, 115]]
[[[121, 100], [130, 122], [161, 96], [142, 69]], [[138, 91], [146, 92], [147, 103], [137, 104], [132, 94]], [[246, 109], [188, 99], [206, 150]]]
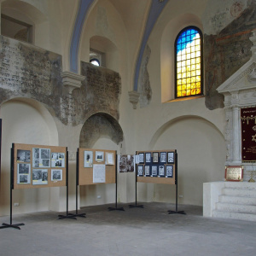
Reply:
[[[224, 136], [207, 119], [192, 115], [172, 119], [155, 132], [149, 147], [177, 149], [181, 204], [201, 206], [203, 183], [224, 179]], [[151, 193], [156, 201], [175, 202], [175, 186], [155, 184]]]

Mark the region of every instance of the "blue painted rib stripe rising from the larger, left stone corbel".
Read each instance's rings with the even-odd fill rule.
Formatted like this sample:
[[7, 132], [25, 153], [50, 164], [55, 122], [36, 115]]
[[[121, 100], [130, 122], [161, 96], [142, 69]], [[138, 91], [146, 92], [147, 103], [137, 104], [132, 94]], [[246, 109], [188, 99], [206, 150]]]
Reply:
[[93, 1], [94, 0], [80, 0], [79, 2], [79, 11], [78, 11], [77, 19], [75, 22], [75, 26], [73, 28], [73, 35], [72, 35], [72, 40], [71, 40], [71, 45], [69, 50], [70, 71], [73, 73], [78, 73], [79, 43], [80, 43], [81, 32], [84, 26], [85, 17]]

